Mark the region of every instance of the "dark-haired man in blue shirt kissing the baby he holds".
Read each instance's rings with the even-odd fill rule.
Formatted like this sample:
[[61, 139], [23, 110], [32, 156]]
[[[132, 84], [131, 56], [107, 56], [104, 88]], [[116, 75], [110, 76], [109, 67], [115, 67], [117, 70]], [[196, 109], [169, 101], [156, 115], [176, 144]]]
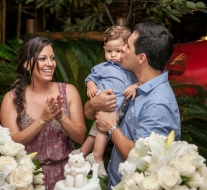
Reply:
[[95, 115], [97, 128], [114, 143], [108, 165], [108, 189], [120, 182], [119, 164], [127, 159], [139, 137], [152, 132], [167, 136], [174, 130], [176, 140], [180, 138], [179, 109], [168, 72], [164, 71], [173, 46], [173, 36], [165, 27], [148, 22], [137, 24], [122, 49], [122, 67], [135, 74], [139, 87], [120, 127], [116, 112], [104, 112], [114, 109], [116, 100], [112, 90], [102, 91], [85, 105], [86, 117], [93, 119]]

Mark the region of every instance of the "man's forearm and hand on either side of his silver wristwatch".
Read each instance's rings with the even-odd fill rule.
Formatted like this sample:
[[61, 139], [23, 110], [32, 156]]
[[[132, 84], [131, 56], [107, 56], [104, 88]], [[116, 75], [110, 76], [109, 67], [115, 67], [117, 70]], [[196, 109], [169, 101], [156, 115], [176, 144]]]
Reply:
[[[117, 112], [96, 112], [96, 126], [101, 132], [107, 131], [112, 126], [117, 125]], [[126, 160], [129, 151], [134, 147], [134, 142], [128, 139], [122, 131], [117, 128], [112, 133], [112, 142], [114, 143], [116, 149], [118, 150], [120, 156]]]

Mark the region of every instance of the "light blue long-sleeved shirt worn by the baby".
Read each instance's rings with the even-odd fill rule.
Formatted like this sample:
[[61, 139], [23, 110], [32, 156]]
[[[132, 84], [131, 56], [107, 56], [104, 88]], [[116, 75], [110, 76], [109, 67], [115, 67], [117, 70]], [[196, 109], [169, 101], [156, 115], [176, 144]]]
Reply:
[[116, 110], [124, 101], [123, 92], [132, 84], [137, 82], [137, 78], [131, 71], [127, 71], [120, 64], [111, 61], [103, 62], [91, 69], [91, 74], [85, 79], [85, 83], [92, 80], [99, 90], [112, 89], [116, 95]]

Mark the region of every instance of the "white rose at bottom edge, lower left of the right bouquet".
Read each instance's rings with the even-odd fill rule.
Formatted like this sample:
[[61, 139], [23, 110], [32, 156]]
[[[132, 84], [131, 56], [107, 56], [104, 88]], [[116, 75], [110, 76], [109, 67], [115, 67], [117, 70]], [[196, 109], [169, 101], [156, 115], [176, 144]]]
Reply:
[[160, 190], [157, 174], [153, 173], [142, 180], [142, 188], [145, 190]]

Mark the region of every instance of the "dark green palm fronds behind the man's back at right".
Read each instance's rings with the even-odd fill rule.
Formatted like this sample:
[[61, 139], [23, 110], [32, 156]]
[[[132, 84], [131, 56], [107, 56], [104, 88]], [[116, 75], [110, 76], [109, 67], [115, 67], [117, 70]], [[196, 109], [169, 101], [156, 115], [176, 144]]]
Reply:
[[207, 89], [206, 87], [171, 81], [177, 91], [189, 91], [177, 96], [181, 116], [181, 140], [196, 144], [200, 154], [207, 159]]

